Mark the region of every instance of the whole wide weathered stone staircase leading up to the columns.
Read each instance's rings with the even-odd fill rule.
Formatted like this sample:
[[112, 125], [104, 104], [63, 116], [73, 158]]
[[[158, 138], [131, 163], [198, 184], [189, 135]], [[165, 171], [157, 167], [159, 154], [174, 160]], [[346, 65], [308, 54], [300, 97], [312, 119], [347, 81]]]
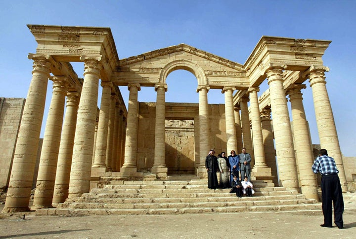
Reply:
[[111, 180], [82, 197], [68, 199], [56, 208], [37, 209], [36, 215], [143, 215], [231, 213], [242, 211], [320, 210], [296, 190], [254, 181], [253, 197], [237, 198], [230, 189], [207, 188], [207, 181], [174, 177], [167, 181]]

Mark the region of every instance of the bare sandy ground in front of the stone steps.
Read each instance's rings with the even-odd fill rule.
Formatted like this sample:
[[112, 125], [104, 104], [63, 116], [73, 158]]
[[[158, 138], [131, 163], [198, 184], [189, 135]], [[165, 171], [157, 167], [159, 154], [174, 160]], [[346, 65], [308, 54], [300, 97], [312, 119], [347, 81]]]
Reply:
[[[3, 205], [0, 207], [2, 209]], [[356, 238], [356, 207], [347, 205], [344, 227], [322, 228], [322, 212], [262, 212], [144, 216], [35, 216], [0, 214], [3, 238]]]

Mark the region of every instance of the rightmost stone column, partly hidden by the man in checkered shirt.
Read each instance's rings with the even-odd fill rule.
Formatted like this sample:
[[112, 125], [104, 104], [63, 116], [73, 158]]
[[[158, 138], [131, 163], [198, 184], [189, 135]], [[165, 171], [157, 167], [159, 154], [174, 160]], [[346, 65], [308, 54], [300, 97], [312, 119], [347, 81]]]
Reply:
[[319, 132], [320, 147], [328, 151], [333, 157], [339, 170], [339, 178], [343, 192], [347, 192], [342, 153], [339, 138], [336, 132], [334, 115], [331, 109], [329, 95], [326, 90], [324, 70], [314, 70], [309, 73], [309, 82], [312, 87], [316, 124]]

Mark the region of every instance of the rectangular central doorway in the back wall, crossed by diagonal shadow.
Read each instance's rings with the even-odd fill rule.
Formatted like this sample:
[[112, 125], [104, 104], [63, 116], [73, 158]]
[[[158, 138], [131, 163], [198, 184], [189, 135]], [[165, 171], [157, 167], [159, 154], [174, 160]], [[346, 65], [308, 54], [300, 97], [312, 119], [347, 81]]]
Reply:
[[168, 174], [195, 174], [194, 120], [166, 119]]

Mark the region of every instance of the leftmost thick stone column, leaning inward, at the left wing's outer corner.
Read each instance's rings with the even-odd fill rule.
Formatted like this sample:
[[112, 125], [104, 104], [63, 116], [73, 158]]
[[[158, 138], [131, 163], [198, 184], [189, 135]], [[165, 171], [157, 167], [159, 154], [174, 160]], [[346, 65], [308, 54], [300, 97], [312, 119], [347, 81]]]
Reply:
[[34, 60], [32, 79], [22, 113], [5, 207], [2, 212], [29, 209], [50, 66], [51, 64], [46, 60]]

